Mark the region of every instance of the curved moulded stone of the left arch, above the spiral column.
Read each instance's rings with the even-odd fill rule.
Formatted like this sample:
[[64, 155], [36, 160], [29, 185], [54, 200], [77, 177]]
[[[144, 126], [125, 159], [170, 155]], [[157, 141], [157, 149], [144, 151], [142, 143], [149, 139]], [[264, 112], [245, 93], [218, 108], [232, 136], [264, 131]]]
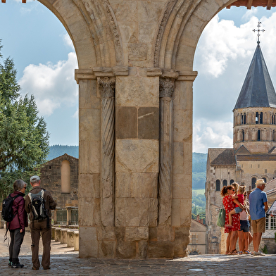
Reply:
[[[108, 1], [39, 0], [56, 15], [70, 35], [79, 69], [123, 65], [122, 42]], [[81, 30], [81, 38], [80, 38]]]

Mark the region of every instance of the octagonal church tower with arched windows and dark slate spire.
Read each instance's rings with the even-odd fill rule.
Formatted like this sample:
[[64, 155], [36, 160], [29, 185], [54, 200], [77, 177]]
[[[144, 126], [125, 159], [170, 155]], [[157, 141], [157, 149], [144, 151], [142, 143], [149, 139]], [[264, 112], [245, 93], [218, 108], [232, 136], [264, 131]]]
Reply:
[[257, 43], [233, 110], [236, 153], [270, 153], [276, 147], [276, 94]]

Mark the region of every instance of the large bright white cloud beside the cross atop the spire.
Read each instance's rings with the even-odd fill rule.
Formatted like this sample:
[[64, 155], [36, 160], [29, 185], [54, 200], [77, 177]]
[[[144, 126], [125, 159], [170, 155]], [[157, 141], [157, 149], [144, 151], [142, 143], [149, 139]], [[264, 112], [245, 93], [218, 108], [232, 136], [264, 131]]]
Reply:
[[[199, 70], [213, 77], [225, 72], [230, 60], [252, 56], [256, 47], [252, 26], [258, 19], [252, 16], [249, 22], [237, 27], [232, 20], [220, 20], [219, 15], [211, 20], [202, 34], [202, 42], [196, 49]], [[196, 68], [198, 70], [198, 68]]]

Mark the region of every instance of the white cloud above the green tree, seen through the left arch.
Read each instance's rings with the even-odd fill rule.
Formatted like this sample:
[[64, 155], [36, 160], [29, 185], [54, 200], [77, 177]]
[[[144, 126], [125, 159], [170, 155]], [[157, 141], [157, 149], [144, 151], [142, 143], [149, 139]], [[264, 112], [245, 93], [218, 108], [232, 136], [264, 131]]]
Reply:
[[67, 61], [58, 61], [56, 64], [30, 64], [19, 81], [21, 94], [35, 95], [41, 115], [51, 115], [56, 108], [63, 105], [72, 106], [77, 101], [75, 68], [75, 53], [69, 53]]

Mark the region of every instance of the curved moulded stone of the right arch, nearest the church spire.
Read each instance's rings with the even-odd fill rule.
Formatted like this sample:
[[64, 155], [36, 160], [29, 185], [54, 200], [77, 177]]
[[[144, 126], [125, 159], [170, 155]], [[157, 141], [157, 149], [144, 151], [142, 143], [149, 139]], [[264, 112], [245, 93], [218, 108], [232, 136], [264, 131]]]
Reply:
[[156, 34], [153, 66], [191, 71], [196, 44], [204, 27], [231, 2], [168, 1]]

